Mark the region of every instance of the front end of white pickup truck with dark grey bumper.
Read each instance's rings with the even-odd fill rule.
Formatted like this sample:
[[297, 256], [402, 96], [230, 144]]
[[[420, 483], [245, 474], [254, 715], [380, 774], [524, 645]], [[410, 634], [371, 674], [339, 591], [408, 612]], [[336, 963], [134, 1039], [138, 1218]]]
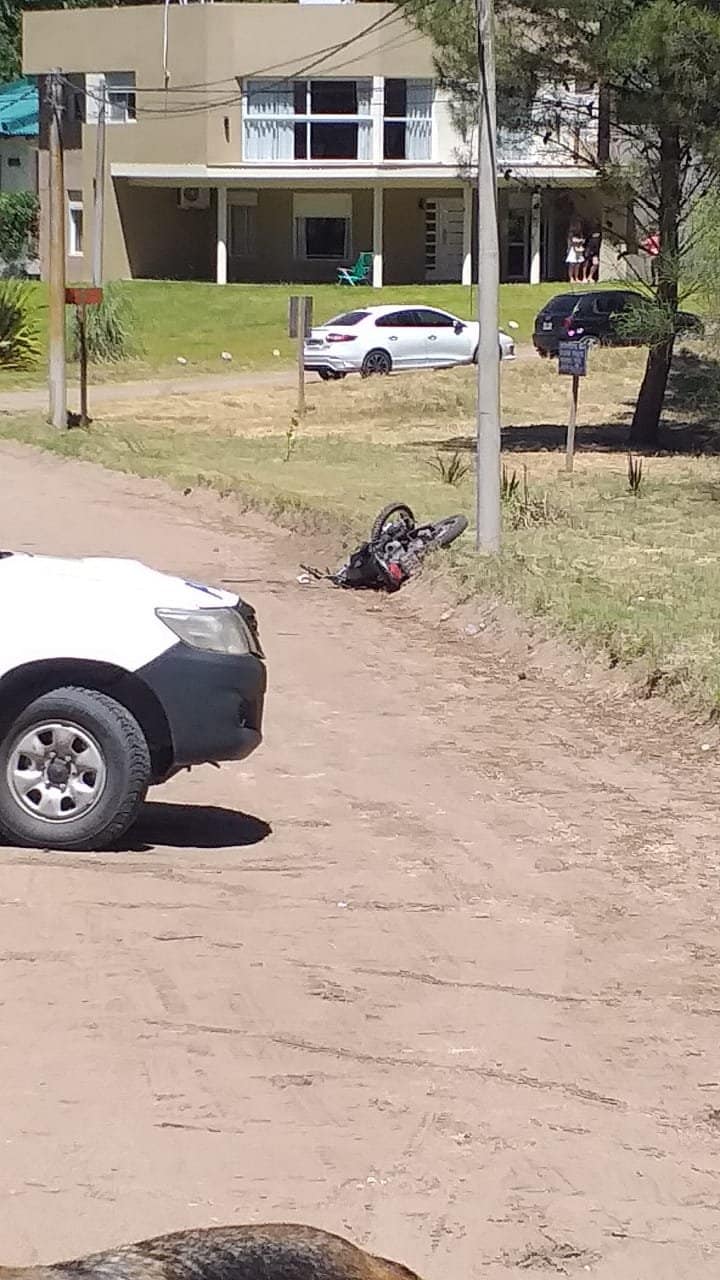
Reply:
[[261, 740], [265, 662], [237, 595], [136, 561], [0, 552], [0, 837], [102, 849], [147, 788]]

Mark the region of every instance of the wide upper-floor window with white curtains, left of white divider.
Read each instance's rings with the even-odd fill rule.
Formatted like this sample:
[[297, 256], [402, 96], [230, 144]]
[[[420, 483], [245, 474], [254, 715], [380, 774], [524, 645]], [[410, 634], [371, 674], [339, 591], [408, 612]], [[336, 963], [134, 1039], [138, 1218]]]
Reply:
[[247, 81], [245, 159], [369, 161], [372, 92], [370, 79]]

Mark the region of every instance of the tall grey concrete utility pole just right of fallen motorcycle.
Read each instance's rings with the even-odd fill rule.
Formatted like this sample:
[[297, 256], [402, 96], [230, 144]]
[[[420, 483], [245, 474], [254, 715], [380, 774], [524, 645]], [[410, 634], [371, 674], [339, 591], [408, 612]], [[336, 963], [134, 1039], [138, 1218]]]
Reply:
[[477, 549], [500, 550], [500, 361], [497, 352], [497, 177], [495, 163], [495, 5], [477, 0], [478, 18], [478, 481]]

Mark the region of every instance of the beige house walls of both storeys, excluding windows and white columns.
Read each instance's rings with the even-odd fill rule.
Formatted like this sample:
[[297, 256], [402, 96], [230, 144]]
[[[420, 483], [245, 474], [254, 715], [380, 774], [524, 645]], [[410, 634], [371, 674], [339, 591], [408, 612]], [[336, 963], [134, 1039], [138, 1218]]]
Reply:
[[[152, 92], [164, 84], [164, 6], [69, 9], [23, 15], [24, 69], [42, 74], [60, 68], [65, 74], [135, 70], [138, 119], [106, 128], [108, 173], [115, 163], [211, 164], [241, 163], [240, 81], [272, 64], [272, 76], [302, 72], [332, 45], [351, 41], [323, 58], [322, 76], [432, 76], [430, 44], [419, 37], [393, 5], [219, 4], [168, 8], [168, 83], [170, 93]], [[364, 33], [379, 19], [387, 27]], [[356, 38], [359, 37], [359, 38]], [[206, 93], [182, 92], [183, 86], [213, 82]], [[173, 110], [210, 105], [210, 110], [165, 115]], [[155, 115], [154, 113], [159, 114]], [[68, 188], [83, 191], [85, 261], [68, 261], [70, 279], [86, 278], [91, 261], [94, 124], [67, 131]], [[42, 140], [44, 141], [44, 140]], [[192, 179], [187, 179], [191, 184]], [[214, 197], [213, 197], [214, 198]], [[264, 192], [259, 224], [260, 255], [242, 264], [260, 279], [334, 279], [334, 265], [295, 262], [291, 242], [291, 193]], [[46, 204], [46, 201], [45, 201]], [[131, 187], [108, 179], [105, 192], [105, 275], [173, 275], [213, 278], [214, 212], [186, 212], [177, 207], [177, 188]], [[44, 219], [45, 220], [45, 219]], [[372, 196], [355, 193], [354, 253], [372, 242]], [[44, 237], [45, 239], [45, 237]], [[240, 270], [241, 264], [229, 264]]]

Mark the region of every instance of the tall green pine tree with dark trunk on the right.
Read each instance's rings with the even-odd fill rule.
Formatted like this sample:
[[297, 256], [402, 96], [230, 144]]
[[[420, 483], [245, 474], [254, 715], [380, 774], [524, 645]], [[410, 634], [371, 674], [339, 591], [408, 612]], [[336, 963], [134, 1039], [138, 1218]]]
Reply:
[[[441, 81], [461, 116], [475, 95], [473, 0], [405, 0], [437, 47]], [[684, 229], [697, 200], [717, 187], [720, 0], [497, 0], [498, 118], [529, 116], [539, 84], [574, 78], [602, 86], [641, 220], [660, 233], [656, 340], [635, 403], [630, 443], [655, 448], [675, 340]], [[611, 174], [605, 157], [597, 166]], [[659, 317], [662, 332], [659, 335]]]

